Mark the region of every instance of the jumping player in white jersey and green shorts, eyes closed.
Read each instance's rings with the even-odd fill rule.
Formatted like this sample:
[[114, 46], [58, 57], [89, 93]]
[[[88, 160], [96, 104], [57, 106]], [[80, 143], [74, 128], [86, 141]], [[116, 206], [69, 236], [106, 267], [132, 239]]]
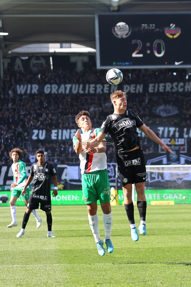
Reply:
[[79, 129], [76, 131], [73, 137], [73, 146], [80, 158], [82, 192], [88, 208], [91, 231], [97, 244], [98, 253], [103, 256], [105, 249], [98, 228], [97, 200], [99, 199], [103, 211], [106, 248], [108, 253], [112, 253], [113, 245], [110, 238], [113, 217], [110, 206], [110, 183], [105, 154], [105, 139], [99, 146], [92, 148], [90, 154], [83, 147], [84, 142], [95, 138], [100, 131], [100, 129], [92, 130], [89, 117], [88, 111], [81, 111], [76, 116], [76, 124], [81, 128], [83, 134], [79, 133]]

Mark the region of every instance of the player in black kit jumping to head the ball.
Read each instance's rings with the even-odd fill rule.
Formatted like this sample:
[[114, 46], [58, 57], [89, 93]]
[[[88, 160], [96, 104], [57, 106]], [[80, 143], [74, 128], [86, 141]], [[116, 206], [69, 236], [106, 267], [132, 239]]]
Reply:
[[[114, 107], [114, 113], [109, 115], [101, 126], [99, 134], [91, 142], [87, 142], [86, 148], [96, 146], [100, 143], [107, 133], [113, 139], [115, 144], [116, 159], [120, 181], [123, 186], [124, 206], [128, 216], [131, 228], [131, 238], [138, 241], [139, 236], [134, 220], [134, 206], [132, 201], [132, 184], [135, 183], [137, 191], [137, 207], [140, 214], [139, 234], [146, 235], [146, 197], [145, 181], [146, 167], [143, 151], [140, 148], [140, 141], [137, 128], [144, 132], [151, 140], [160, 144], [165, 152], [171, 149], [163, 143], [158, 136], [150, 130], [139, 116], [133, 110], [126, 110], [127, 99], [126, 93], [115, 91], [110, 95]], [[87, 151], [89, 153], [89, 151]]]

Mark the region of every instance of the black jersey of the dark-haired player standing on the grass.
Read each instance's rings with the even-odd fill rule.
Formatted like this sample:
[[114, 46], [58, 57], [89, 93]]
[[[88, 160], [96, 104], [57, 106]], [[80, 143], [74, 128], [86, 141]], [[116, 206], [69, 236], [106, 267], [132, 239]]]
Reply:
[[33, 176], [31, 193], [42, 196], [50, 196], [51, 176], [56, 175], [56, 170], [51, 163], [45, 161], [43, 166], [35, 162], [31, 165], [30, 175]]

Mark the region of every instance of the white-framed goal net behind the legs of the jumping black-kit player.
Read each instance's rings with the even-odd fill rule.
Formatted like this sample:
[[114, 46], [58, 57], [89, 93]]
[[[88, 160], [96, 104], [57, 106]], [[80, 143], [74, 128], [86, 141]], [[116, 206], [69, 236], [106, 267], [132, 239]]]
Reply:
[[[146, 166], [146, 172], [147, 203], [191, 203], [191, 165], [150, 165]], [[137, 193], [134, 188], [132, 199], [136, 203]]]

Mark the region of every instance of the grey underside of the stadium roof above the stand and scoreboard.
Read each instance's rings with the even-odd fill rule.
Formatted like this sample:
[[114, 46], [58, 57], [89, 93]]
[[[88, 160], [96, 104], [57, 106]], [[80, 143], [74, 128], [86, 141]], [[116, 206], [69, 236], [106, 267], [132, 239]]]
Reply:
[[[191, 11], [191, 1], [118, 1], [119, 12]], [[9, 1], [0, 0], [3, 55], [34, 43], [76, 43], [96, 48], [97, 13], [111, 12], [110, 0]]]

